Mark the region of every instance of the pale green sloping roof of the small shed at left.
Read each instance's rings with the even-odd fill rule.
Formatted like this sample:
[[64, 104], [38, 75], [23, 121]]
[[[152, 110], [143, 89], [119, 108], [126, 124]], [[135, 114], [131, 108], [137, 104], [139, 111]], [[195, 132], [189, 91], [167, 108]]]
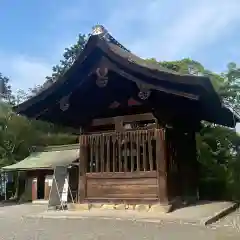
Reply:
[[79, 144], [47, 147], [31, 153], [24, 160], [3, 167], [5, 171], [53, 169], [56, 166], [68, 166], [79, 158]]

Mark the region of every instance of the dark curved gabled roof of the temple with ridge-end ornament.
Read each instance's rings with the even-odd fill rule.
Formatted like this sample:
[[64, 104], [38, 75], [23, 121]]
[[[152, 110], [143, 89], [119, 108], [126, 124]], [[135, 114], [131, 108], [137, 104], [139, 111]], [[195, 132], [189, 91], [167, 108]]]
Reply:
[[[111, 70], [125, 79], [137, 84], [144, 83], [153, 90], [201, 101], [203, 108], [208, 108], [203, 120], [228, 126], [232, 126], [233, 118], [239, 121], [237, 116], [222, 106], [220, 97], [208, 77], [179, 74], [163, 68], [160, 64], [147, 62], [121, 45], [101, 25], [93, 29], [85, 48], [72, 67], [44, 91], [17, 106], [16, 111], [29, 117], [41, 118], [50, 105], [59, 103], [61, 99], [80, 89], [102, 64], [102, 59], [105, 59]], [[213, 116], [214, 111], [218, 114]], [[81, 116], [84, 117], [84, 114], [82, 113]], [[224, 116], [227, 116], [228, 120], [225, 121]]]

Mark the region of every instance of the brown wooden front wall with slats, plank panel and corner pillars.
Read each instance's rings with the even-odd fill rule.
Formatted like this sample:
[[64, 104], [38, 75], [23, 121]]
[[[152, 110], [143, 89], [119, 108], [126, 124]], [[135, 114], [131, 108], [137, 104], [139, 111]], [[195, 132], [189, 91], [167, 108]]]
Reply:
[[167, 202], [165, 130], [80, 136], [79, 200]]

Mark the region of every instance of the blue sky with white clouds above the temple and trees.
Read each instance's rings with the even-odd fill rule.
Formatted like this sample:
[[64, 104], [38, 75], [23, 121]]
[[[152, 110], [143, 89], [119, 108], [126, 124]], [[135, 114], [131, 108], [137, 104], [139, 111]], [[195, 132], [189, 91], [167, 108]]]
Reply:
[[0, 72], [14, 89], [43, 83], [78, 33], [103, 24], [141, 57], [240, 63], [240, 0], [2, 0]]

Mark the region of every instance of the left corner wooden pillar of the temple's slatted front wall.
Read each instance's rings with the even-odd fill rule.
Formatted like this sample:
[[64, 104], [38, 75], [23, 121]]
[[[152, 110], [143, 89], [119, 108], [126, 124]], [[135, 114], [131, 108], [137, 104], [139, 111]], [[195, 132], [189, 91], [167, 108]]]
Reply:
[[80, 136], [80, 152], [79, 152], [79, 185], [78, 185], [78, 201], [83, 203], [86, 198], [86, 169], [87, 169], [87, 136]]

